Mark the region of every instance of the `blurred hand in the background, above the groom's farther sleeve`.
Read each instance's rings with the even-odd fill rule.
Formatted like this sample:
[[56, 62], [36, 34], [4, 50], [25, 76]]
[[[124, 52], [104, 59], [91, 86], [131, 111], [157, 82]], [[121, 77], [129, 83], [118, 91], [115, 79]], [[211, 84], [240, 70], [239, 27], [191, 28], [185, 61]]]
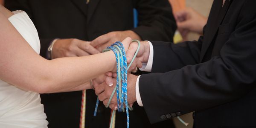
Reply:
[[207, 17], [204, 17], [192, 8], [176, 12], [175, 19], [178, 30], [185, 40], [189, 32], [203, 34], [203, 28], [207, 22]]

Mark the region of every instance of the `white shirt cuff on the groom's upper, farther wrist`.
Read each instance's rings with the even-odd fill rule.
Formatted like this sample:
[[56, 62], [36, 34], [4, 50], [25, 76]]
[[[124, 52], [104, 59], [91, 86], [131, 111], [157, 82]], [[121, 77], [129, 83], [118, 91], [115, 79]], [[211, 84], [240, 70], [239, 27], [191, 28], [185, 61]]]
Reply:
[[148, 63], [143, 63], [142, 68], [140, 68], [140, 70], [145, 71], [145, 72], [151, 72], [152, 65], [153, 65], [153, 58], [154, 58], [154, 49], [153, 49], [153, 45], [151, 44], [151, 42], [150, 41], [147, 41], [147, 42], [150, 47]]

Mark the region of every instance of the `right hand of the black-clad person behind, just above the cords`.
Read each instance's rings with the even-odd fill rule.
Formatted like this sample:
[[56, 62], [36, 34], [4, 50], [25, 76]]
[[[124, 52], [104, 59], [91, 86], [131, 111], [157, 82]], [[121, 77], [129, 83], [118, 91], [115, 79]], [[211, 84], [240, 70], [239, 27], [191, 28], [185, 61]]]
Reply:
[[115, 31], [115, 32], [109, 32], [105, 35], [99, 36], [98, 38], [94, 39], [91, 42], [91, 45], [93, 47], [97, 47], [97, 49], [100, 52], [102, 52], [103, 49], [107, 48], [108, 46], [111, 46], [111, 44], [115, 43], [116, 41], [124, 40], [126, 37], [131, 37], [132, 39], [141, 40], [140, 36], [131, 30]]

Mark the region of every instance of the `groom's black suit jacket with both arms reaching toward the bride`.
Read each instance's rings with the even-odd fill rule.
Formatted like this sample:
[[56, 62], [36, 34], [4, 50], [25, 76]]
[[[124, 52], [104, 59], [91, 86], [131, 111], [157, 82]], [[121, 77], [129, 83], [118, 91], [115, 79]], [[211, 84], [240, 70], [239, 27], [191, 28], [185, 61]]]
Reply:
[[214, 0], [198, 41], [152, 41], [139, 81], [151, 123], [195, 111], [195, 128], [256, 128], [256, 1], [226, 2]]

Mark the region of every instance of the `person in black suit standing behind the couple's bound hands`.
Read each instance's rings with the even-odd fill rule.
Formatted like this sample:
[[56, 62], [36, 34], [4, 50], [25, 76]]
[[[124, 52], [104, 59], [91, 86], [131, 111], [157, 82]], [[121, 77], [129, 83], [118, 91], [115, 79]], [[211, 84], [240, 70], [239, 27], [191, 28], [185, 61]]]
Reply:
[[[40, 55], [49, 59], [96, 54], [128, 36], [172, 41], [176, 29], [167, 0], [6, 0], [5, 5], [29, 15], [38, 30]], [[133, 28], [133, 8], [138, 11], [137, 28]], [[48, 51], [49, 46], [52, 50]], [[41, 95], [49, 128], [79, 127], [81, 94], [78, 91]], [[107, 128], [110, 110], [100, 103], [97, 116], [93, 117], [96, 95], [87, 90], [86, 96], [85, 127]], [[151, 126], [138, 105], [134, 105], [130, 116], [131, 128], [174, 127], [172, 121]], [[125, 119], [125, 113], [117, 113], [116, 128], [126, 127]]]

